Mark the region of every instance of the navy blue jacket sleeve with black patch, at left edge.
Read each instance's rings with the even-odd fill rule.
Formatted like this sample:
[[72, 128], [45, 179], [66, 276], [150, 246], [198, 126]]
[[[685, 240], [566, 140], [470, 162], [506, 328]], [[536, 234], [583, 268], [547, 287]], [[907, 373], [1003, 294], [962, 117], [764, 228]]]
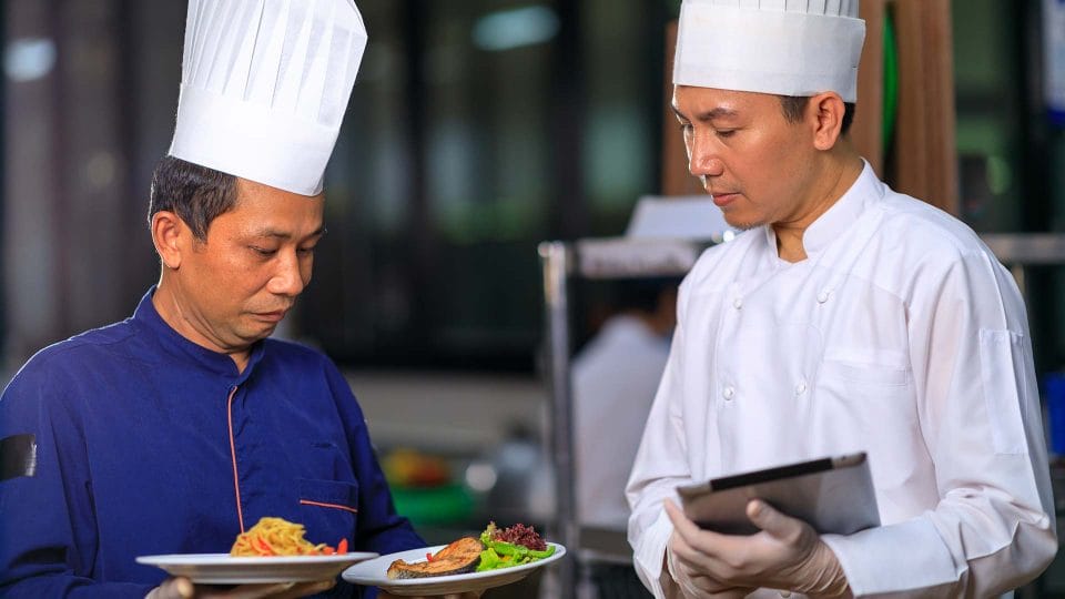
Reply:
[[97, 526], [73, 392], [38, 366], [31, 361], [0, 398], [0, 439], [32, 440], [30, 458], [0, 479], [0, 597], [143, 598], [150, 585], [91, 578]]

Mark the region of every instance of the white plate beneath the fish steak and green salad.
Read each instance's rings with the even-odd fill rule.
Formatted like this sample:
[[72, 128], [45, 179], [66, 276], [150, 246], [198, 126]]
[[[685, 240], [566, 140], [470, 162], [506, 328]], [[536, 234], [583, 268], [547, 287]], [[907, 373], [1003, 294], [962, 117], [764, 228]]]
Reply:
[[548, 545], [555, 548], [555, 552], [551, 554], [550, 557], [520, 566], [511, 566], [509, 568], [500, 568], [485, 572], [390, 580], [386, 572], [393, 561], [397, 559], [405, 560], [409, 564], [425, 561], [426, 554], [435, 554], [447, 546], [437, 545], [436, 547], [410, 549], [409, 551], [389, 554], [362, 564], [356, 564], [344, 570], [344, 580], [355, 585], [379, 587], [382, 590], [393, 595], [444, 595], [448, 592], [481, 591], [493, 587], [501, 587], [517, 582], [532, 573], [532, 570], [561, 559], [561, 557], [566, 555], [566, 548], [556, 542], [549, 542]]

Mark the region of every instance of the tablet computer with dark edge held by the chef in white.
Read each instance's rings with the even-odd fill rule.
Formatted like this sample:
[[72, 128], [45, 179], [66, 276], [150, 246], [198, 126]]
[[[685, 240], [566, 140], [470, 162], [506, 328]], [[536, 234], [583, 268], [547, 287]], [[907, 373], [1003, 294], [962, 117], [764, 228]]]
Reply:
[[752, 535], [747, 504], [762, 499], [818, 532], [850, 535], [880, 526], [865, 454], [826, 457], [677, 487], [684, 515], [702, 528]]

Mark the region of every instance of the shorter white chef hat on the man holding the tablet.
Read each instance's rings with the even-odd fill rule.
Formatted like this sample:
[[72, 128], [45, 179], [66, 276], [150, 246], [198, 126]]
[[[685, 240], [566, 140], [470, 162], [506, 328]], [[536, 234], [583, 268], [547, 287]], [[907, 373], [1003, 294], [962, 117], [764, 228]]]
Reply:
[[673, 83], [858, 99], [858, 0], [683, 0]]

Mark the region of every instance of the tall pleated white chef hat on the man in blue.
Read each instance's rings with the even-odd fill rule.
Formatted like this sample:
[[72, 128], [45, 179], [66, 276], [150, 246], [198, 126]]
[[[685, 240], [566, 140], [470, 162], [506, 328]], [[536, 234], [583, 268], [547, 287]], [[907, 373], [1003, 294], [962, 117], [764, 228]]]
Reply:
[[317, 195], [365, 48], [352, 0], [189, 0], [170, 154]]

